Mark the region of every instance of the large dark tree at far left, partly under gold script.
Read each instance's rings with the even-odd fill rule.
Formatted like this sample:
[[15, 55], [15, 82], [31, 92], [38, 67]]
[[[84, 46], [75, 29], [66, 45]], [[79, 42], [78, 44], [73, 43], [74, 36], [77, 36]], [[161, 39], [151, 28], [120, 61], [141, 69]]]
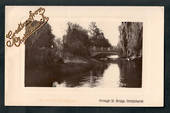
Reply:
[[[40, 24], [40, 21], [33, 21], [32, 24], [26, 26], [26, 34], [32, 27]], [[51, 32], [51, 26], [47, 23], [33, 33], [25, 41], [25, 63], [26, 66], [37, 66], [52, 63], [55, 51], [54, 35]]]

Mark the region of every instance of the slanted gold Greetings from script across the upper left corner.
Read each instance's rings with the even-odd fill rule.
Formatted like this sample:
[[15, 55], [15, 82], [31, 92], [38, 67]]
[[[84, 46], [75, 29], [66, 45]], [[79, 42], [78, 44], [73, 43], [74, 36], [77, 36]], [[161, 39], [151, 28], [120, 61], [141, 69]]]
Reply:
[[[32, 13], [32, 11], [29, 12], [29, 18], [23, 22], [23, 23], [19, 23], [17, 29], [12, 32], [11, 30], [6, 34], [6, 38], [8, 38], [9, 40], [6, 42], [6, 45], [8, 47], [12, 47], [12, 46], [16, 46], [19, 47], [21, 45], [21, 43], [25, 43], [25, 41], [27, 40], [27, 38], [33, 34], [35, 31], [37, 31], [38, 29], [40, 29], [44, 24], [47, 23], [47, 21], [49, 20], [48, 17], [44, 16], [45, 13], [45, 9], [40, 7], [39, 9], [37, 9], [35, 12]], [[38, 24], [36, 24], [34, 27], [31, 27], [31, 29], [29, 30], [28, 33], [25, 33], [23, 35], [23, 37], [18, 37], [16, 36], [21, 30], [23, 30], [23, 28], [25, 28], [27, 25], [31, 25], [34, 22], [34, 17], [36, 15], [40, 15], [41, 19], [40, 22]]]

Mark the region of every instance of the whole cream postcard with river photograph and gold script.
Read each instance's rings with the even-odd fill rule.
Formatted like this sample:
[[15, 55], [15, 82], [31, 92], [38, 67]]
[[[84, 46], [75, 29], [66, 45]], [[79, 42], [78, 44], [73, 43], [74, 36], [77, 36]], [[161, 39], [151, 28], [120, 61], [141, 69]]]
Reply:
[[164, 7], [6, 6], [6, 106], [164, 106]]

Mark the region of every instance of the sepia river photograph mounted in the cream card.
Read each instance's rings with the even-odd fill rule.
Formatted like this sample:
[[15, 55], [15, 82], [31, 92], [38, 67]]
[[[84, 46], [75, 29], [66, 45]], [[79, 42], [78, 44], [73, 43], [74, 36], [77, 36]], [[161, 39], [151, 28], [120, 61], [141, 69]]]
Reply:
[[25, 87], [142, 87], [143, 22], [50, 19], [25, 42]]

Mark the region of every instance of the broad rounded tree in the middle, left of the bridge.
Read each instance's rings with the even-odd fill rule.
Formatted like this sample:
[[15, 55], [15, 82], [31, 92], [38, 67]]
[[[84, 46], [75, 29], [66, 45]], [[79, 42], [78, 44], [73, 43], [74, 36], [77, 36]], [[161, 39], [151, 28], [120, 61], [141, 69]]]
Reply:
[[67, 34], [63, 36], [64, 52], [75, 56], [89, 56], [89, 36], [86, 29], [69, 22]]

